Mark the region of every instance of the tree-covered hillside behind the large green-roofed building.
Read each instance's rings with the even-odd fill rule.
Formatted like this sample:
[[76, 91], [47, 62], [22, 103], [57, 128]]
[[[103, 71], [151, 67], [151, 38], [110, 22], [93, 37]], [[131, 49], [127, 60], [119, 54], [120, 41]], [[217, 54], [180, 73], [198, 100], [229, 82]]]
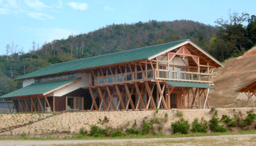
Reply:
[[[0, 95], [21, 87], [20, 82], [14, 81], [17, 77], [50, 64], [182, 39], [190, 39], [219, 61], [224, 61], [229, 57], [239, 56], [255, 44], [255, 19], [250, 22], [250, 27], [242, 26], [241, 22], [244, 21], [239, 23], [230, 21], [226, 25], [219, 20], [218, 27], [187, 20], [112, 24], [87, 34], [54, 40], [37, 49], [36, 44], [33, 43], [32, 50], [27, 53], [13, 52], [13, 45], [7, 45], [6, 50], [12, 49], [12, 51], [8, 55], [0, 56]], [[248, 36], [254, 39], [249, 39]], [[227, 44], [226, 41], [230, 43]], [[233, 45], [232, 42], [237, 43]], [[230, 47], [231, 45], [233, 46]]]

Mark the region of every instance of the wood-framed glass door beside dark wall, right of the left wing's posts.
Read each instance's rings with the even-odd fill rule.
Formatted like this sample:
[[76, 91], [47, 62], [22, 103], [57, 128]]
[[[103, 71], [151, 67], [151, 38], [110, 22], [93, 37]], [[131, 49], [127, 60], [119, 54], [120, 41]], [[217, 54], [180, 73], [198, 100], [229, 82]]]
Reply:
[[83, 97], [66, 97], [67, 106], [66, 110], [84, 110]]

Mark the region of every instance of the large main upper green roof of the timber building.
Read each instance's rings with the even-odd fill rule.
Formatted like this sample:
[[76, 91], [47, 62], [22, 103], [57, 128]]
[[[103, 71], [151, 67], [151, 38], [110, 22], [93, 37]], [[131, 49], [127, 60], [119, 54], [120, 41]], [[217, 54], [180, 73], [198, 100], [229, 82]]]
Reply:
[[[141, 59], [148, 59], [155, 54], [159, 54], [166, 49], [177, 46], [187, 40], [170, 42], [167, 44], [160, 44], [156, 46], [142, 47], [139, 49], [133, 49], [129, 51], [122, 51], [113, 54], [107, 54], [103, 56], [90, 57], [86, 59], [80, 59], [76, 61], [63, 62], [60, 64], [52, 64], [51, 66], [44, 67], [35, 72], [18, 77], [17, 79], [26, 79], [30, 77], [39, 77], [42, 75], [57, 74], [61, 72], [76, 71], [79, 69], [88, 69], [91, 67], [106, 66], [110, 64], [118, 64], [122, 62], [137, 61]], [[17, 80], [16, 79], [16, 80]]]

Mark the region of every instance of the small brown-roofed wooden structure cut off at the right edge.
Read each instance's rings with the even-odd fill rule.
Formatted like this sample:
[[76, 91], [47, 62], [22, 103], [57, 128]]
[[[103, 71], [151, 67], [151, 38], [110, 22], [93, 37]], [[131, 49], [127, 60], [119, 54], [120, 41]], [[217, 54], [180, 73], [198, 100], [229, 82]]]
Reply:
[[248, 106], [255, 107], [255, 99], [251, 100], [253, 97], [256, 97], [256, 79], [250, 81], [249, 83], [243, 85], [235, 92], [243, 92], [248, 97]]

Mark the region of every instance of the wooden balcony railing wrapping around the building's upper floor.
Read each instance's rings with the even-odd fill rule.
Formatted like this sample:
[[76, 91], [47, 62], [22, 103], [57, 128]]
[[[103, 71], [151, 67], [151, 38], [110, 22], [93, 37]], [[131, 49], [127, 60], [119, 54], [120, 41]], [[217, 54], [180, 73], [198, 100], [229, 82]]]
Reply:
[[161, 79], [190, 82], [212, 83], [212, 74], [189, 71], [170, 71], [164, 69], [151, 69], [147, 71], [127, 72], [123, 74], [105, 75], [96, 77], [95, 85], [115, 84], [119, 82], [132, 82], [140, 80]]

